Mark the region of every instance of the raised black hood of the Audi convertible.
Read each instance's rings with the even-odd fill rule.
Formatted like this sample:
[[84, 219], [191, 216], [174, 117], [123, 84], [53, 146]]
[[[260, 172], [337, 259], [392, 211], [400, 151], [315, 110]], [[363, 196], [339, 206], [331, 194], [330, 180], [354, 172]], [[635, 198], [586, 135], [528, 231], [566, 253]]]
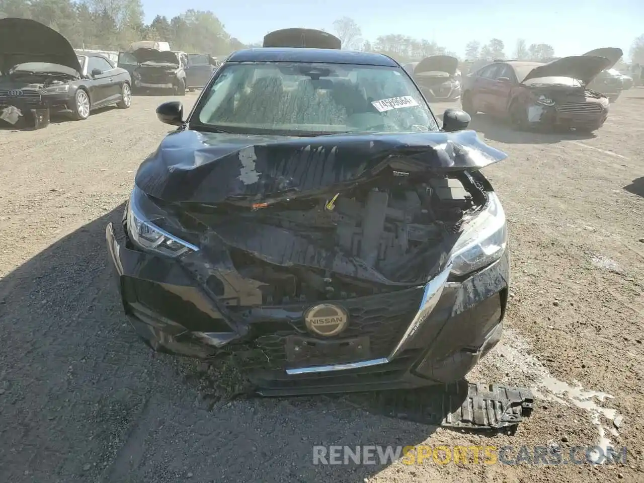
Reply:
[[26, 62], [48, 62], [82, 72], [76, 52], [60, 33], [30, 19], [0, 19], [0, 72]]

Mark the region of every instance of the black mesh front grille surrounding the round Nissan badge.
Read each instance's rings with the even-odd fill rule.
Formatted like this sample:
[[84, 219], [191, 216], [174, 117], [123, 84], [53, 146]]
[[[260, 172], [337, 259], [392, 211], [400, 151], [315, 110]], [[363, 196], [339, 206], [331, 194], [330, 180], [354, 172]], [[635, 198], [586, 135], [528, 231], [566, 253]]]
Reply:
[[[252, 345], [256, 357], [249, 359], [252, 368], [285, 368], [287, 356], [286, 339], [289, 336], [308, 336], [320, 340], [351, 339], [368, 336], [370, 339], [370, 359], [386, 357], [400, 341], [405, 330], [412, 323], [421, 304], [424, 288], [399, 290], [376, 296], [361, 297], [339, 301], [349, 312], [349, 326], [336, 337], [315, 337], [307, 331], [303, 317], [296, 320], [272, 320], [252, 324]], [[284, 307], [286, 312], [301, 313], [302, 306]], [[324, 361], [324, 364], [345, 361]]]

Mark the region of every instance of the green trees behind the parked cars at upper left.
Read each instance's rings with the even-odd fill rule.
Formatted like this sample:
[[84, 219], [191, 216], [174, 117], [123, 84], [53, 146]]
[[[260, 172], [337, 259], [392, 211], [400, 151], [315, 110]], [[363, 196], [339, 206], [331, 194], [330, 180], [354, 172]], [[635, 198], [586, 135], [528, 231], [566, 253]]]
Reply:
[[175, 50], [225, 55], [244, 48], [209, 11], [187, 10], [144, 23], [140, 0], [0, 0], [0, 18], [33, 19], [61, 32], [74, 48], [126, 50], [135, 41], [167, 41]]

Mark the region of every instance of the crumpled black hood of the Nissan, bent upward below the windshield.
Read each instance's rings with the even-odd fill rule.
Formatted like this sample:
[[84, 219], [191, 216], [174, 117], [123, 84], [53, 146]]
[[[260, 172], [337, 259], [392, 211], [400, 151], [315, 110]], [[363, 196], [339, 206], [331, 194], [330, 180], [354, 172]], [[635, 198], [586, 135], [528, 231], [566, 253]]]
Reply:
[[475, 131], [305, 138], [177, 131], [141, 164], [135, 183], [166, 202], [252, 207], [338, 193], [388, 167], [477, 170], [506, 157]]

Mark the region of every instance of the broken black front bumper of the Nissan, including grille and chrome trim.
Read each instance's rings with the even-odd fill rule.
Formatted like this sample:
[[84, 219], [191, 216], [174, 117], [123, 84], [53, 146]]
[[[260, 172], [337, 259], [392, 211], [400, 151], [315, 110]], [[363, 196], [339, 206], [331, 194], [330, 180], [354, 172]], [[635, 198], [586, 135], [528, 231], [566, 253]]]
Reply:
[[[106, 239], [124, 310], [149, 345], [193, 357], [229, 354], [263, 395], [452, 383], [502, 332], [507, 252], [464, 279], [451, 278], [448, 266], [424, 287], [342, 299], [349, 326], [322, 340], [307, 331], [310, 304], [220, 305], [210, 285], [216, 269], [200, 252], [178, 260], [138, 251], [118, 242], [111, 223]], [[188, 267], [195, 264], [198, 276]]]

